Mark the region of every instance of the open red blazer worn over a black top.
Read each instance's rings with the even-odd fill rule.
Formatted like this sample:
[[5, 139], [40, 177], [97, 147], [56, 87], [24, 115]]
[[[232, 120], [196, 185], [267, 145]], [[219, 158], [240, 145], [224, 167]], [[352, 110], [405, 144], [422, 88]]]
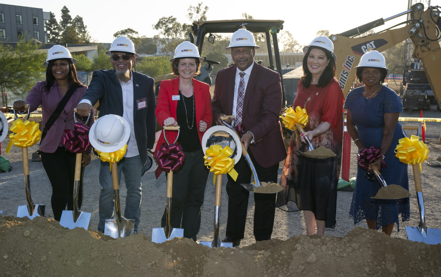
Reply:
[[[199, 141], [202, 141], [202, 136], [205, 132], [199, 132], [199, 121], [205, 121], [207, 123], [207, 129], [210, 128], [211, 123], [213, 122], [210, 86], [193, 79], [193, 89], [194, 106], [196, 108], [196, 127], [198, 129]], [[164, 120], [169, 117], [175, 118], [176, 120], [176, 107], [178, 106], [178, 100], [172, 100], [173, 95], [179, 95], [179, 76], [171, 80], [161, 81], [161, 85], [159, 85], [155, 114], [160, 126], [164, 126]], [[172, 144], [176, 140], [178, 131], [165, 131], [165, 134], [168, 143]], [[165, 140], [164, 136], [161, 134], [155, 151], [159, 149], [163, 142], [165, 142]]]

